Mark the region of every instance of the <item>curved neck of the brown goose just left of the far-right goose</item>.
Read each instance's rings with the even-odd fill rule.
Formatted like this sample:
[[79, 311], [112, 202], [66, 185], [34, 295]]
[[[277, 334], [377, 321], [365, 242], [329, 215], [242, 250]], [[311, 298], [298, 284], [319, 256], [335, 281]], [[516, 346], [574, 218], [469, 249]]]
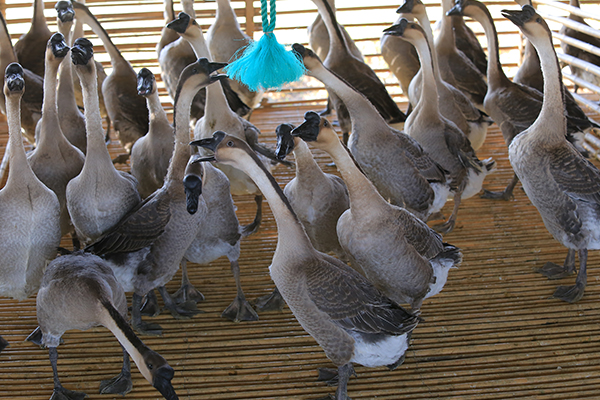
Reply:
[[[472, 11], [471, 11], [472, 10]], [[491, 88], [500, 86], [509, 79], [504, 74], [502, 64], [500, 63], [500, 48], [498, 45], [498, 33], [496, 32], [496, 26], [494, 20], [483, 4], [477, 4], [475, 7], [469, 7], [469, 16], [478, 21], [485, 32], [485, 37], [488, 43], [488, 67], [487, 67], [487, 78], [488, 85]]]

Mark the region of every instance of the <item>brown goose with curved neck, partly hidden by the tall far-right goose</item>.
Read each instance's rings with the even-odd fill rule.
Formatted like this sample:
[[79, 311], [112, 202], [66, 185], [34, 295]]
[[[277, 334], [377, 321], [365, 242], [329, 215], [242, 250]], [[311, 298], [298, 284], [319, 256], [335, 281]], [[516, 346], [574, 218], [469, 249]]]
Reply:
[[[488, 91], [484, 99], [484, 106], [502, 130], [504, 141], [509, 146], [519, 132], [527, 129], [535, 121], [541, 110], [543, 95], [529, 86], [512, 82], [504, 74], [500, 63], [496, 27], [489, 10], [484, 4], [477, 0], [460, 0], [449, 13], [461, 13], [469, 16], [479, 22], [485, 31], [489, 62], [487, 71]], [[578, 131], [578, 128], [576, 128], [577, 118], [568, 118], [567, 121], [569, 133]], [[518, 182], [518, 177], [515, 174], [503, 191], [484, 190], [482, 197], [509, 200], [512, 198], [513, 189]]]

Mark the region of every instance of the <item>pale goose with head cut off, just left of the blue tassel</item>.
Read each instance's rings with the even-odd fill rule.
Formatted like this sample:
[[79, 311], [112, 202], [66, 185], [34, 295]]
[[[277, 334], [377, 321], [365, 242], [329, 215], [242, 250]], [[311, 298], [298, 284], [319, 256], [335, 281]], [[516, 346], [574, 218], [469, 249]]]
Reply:
[[[206, 32], [206, 43], [208, 43], [208, 49], [213, 61], [223, 63], [232, 62], [236, 57], [236, 53], [241, 48], [247, 46], [250, 41], [250, 36], [242, 32], [230, 1], [217, 0], [215, 22]], [[263, 90], [252, 91], [235, 79], [229, 79], [228, 82], [231, 89], [238, 94], [240, 100], [250, 110], [260, 105], [260, 101], [264, 95]]]

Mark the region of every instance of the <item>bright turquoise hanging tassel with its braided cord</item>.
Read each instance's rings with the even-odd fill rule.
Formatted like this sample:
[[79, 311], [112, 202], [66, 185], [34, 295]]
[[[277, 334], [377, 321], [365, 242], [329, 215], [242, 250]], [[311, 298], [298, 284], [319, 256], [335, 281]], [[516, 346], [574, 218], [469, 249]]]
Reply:
[[243, 55], [225, 67], [225, 72], [253, 91], [281, 89], [284, 84], [300, 79], [305, 68], [295, 53], [287, 51], [275, 38], [275, 0], [270, 0], [270, 11], [267, 0], [260, 3], [264, 35], [246, 46]]

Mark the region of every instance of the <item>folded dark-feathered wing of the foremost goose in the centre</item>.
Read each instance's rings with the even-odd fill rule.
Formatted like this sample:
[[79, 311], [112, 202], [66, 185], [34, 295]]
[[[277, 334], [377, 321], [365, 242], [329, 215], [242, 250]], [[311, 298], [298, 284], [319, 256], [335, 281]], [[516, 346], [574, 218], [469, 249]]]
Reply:
[[385, 297], [365, 277], [341, 261], [323, 255], [308, 268], [310, 299], [335, 324], [362, 333], [401, 335], [419, 319]]

